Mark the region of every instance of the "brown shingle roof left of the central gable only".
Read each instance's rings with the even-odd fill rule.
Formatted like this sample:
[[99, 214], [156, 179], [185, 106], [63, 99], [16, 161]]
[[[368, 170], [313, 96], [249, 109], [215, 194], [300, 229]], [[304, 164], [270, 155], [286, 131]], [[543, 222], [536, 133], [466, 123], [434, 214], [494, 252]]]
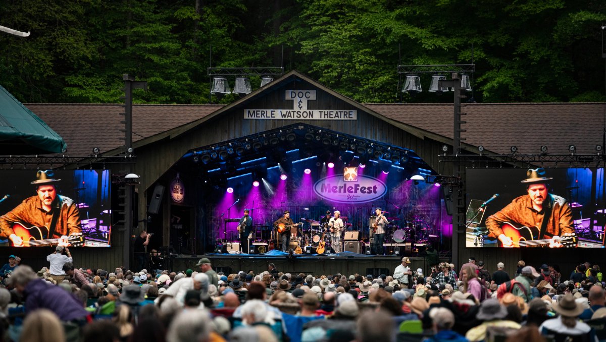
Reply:
[[[124, 145], [119, 104], [26, 104], [67, 142], [70, 156], [88, 156], [93, 148]], [[133, 105], [133, 141], [200, 119], [223, 105]]]

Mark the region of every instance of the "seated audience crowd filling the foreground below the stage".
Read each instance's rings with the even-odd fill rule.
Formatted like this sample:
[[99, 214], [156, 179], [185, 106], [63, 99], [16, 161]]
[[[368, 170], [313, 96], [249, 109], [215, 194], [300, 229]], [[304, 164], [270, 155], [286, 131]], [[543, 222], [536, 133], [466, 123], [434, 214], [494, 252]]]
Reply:
[[[2, 341], [599, 341], [606, 322], [598, 265], [570, 277], [471, 258], [393, 274], [185, 272], [76, 268], [58, 247], [49, 268], [16, 265], [0, 288]], [[565, 278], [568, 278], [565, 280]]]

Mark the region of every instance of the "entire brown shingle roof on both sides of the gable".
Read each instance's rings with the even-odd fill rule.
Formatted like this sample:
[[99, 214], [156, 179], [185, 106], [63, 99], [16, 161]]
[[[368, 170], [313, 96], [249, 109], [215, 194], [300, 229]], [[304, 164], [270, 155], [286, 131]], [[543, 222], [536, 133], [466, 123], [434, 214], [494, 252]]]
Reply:
[[[68, 154], [84, 156], [98, 146], [101, 151], [122, 145], [123, 128], [118, 104], [27, 104], [67, 142]], [[453, 106], [448, 104], [364, 104], [382, 116], [452, 139]], [[133, 140], [153, 136], [192, 122], [223, 105], [133, 105]], [[563, 154], [568, 145], [577, 152], [594, 153], [602, 144], [605, 104], [469, 104], [464, 107], [467, 123], [462, 128], [465, 143], [484, 145], [493, 153]], [[403, 146], [406, 147], [406, 146]]]

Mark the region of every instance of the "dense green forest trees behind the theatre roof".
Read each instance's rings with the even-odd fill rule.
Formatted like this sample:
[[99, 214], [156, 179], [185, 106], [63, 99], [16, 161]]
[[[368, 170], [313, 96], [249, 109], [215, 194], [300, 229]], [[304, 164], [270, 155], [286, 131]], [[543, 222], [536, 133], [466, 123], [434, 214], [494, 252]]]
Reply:
[[0, 33], [0, 84], [22, 102], [121, 102], [131, 74], [149, 85], [136, 102], [204, 104], [210, 61], [283, 61], [359, 102], [450, 102], [402, 94], [397, 65], [472, 58], [481, 102], [604, 100], [604, 1], [9, 0], [0, 18], [32, 32]]

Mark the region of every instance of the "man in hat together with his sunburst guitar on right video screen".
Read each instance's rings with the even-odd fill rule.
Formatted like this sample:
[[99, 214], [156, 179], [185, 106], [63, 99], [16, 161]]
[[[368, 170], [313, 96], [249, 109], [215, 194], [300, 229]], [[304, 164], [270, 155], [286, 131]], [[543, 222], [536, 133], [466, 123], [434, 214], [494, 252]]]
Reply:
[[574, 242], [572, 209], [563, 197], [549, 193], [545, 169], [528, 169], [527, 194], [486, 219], [488, 237], [498, 238], [502, 247], [548, 245], [559, 248]]

